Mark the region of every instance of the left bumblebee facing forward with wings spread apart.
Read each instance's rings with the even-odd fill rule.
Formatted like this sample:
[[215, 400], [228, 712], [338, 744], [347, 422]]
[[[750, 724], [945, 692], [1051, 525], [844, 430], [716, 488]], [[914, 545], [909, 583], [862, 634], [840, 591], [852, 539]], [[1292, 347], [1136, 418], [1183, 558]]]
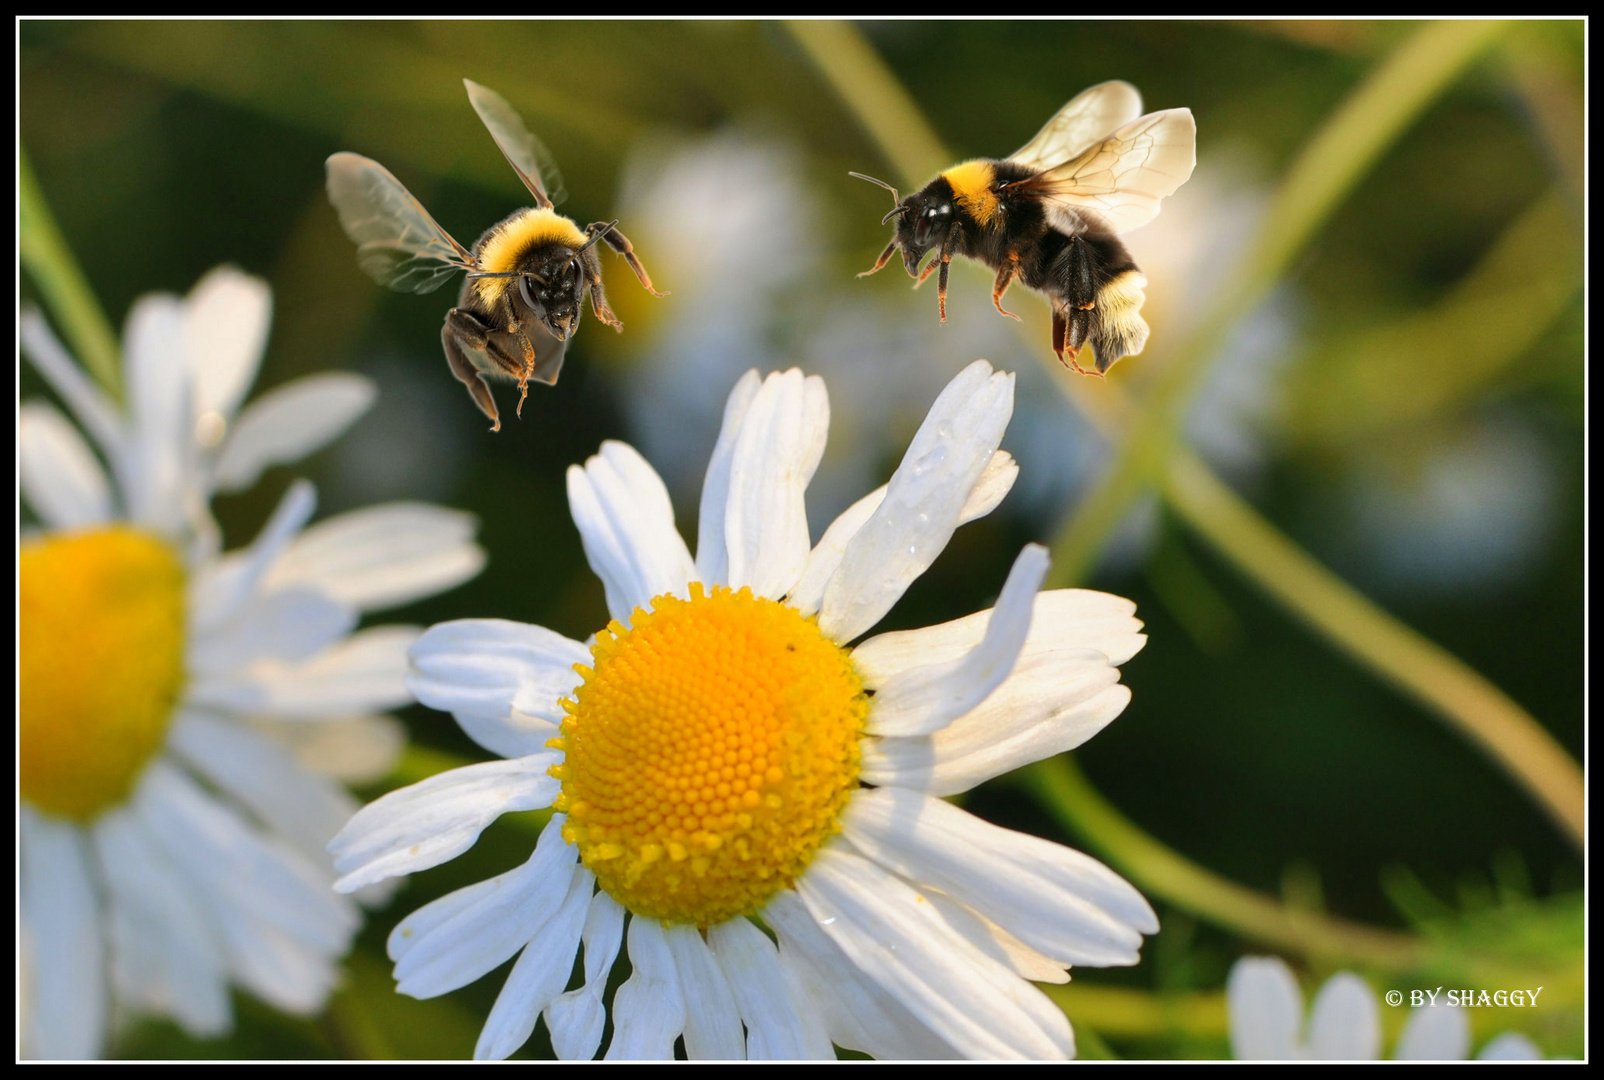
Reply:
[[484, 229], [470, 250], [439, 228], [388, 168], [350, 152], [329, 157], [329, 202], [356, 242], [358, 263], [382, 286], [433, 292], [459, 270], [468, 271], [439, 340], [451, 374], [492, 420], [491, 430], [499, 432], [489, 376], [518, 382], [521, 414], [529, 380], [557, 382], [587, 292], [597, 318], [622, 329], [602, 290], [597, 241], [629, 260], [646, 292], [662, 294], [651, 287], [616, 220], [581, 231], [553, 210], [565, 193], [550, 152], [499, 93], [467, 79], [462, 83], [473, 111], [534, 196], [533, 209], [515, 210]]

